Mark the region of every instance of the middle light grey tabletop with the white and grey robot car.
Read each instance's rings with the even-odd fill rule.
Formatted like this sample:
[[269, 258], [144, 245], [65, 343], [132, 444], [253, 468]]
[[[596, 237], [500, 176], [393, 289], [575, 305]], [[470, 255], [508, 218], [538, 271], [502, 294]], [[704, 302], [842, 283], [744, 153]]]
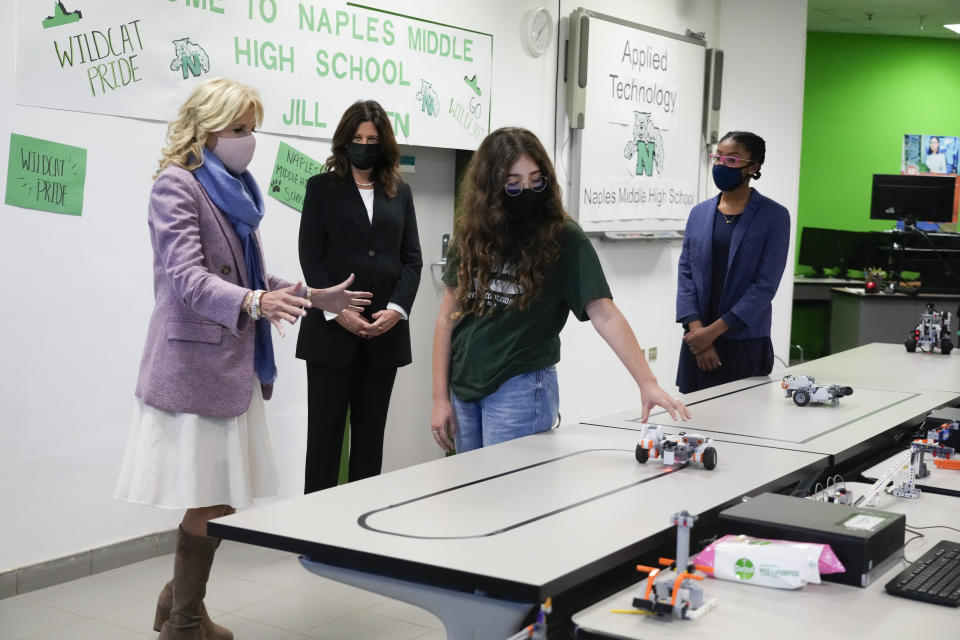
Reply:
[[[795, 367], [804, 371], [806, 368]], [[651, 415], [650, 422], [671, 427], [667, 430], [670, 433], [682, 430], [703, 433], [718, 442], [808, 451], [831, 456], [832, 464], [839, 464], [869, 448], [871, 441], [884, 439], [899, 425], [960, 395], [852, 385], [853, 395], [842, 398], [836, 407], [830, 404], [798, 407], [785, 397], [779, 379], [752, 380], [755, 382], [750, 386], [691, 402], [693, 418], [686, 422], [675, 421], [664, 411]], [[844, 385], [850, 382], [834, 378], [824, 381]], [[639, 416], [639, 410], [628, 409], [590, 420], [589, 424], [639, 432], [644, 428]], [[722, 460], [722, 451], [720, 457]]]

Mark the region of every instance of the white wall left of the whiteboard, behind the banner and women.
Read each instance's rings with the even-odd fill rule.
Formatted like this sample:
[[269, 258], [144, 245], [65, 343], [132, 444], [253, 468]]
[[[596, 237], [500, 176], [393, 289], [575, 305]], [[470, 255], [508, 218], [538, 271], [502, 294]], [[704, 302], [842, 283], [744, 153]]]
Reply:
[[[174, 528], [180, 513], [111, 498], [127, 435], [140, 351], [152, 308], [146, 203], [163, 145], [163, 123], [14, 105], [16, 5], [3, 3], [0, 34], [0, 140], [10, 133], [88, 150], [81, 217], [0, 205], [0, 572], [151, 532]], [[439, 0], [374, 2], [407, 15], [494, 35], [492, 125], [522, 124], [553, 145], [556, 51], [523, 53], [519, 15], [533, 0], [457, 6]], [[515, 16], [504, 21], [498, 16]], [[238, 78], [243, 80], [243, 78]], [[357, 96], [361, 97], [361, 96]], [[174, 114], [170, 114], [173, 117]], [[252, 171], [267, 179], [277, 136], [262, 135]], [[328, 146], [286, 138], [323, 159]], [[414, 148], [415, 194], [424, 259], [439, 257], [453, 225], [453, 152]], [[6, 175], [7, 153], [0, 153]], [[264, 248], [271, 271], [300, 276], [298, 214], [267, 199]], [[388, 421], [384, 467], [440, 455], [429, 438], [430, 349], [438, 298], [429, 267], [412, 312], [414, 361], [401, 370]], [[268, 415], [282, 493], [302, 491], [306, 381], [293, 357], [296, 329], [275, 340], [279, 366]]]

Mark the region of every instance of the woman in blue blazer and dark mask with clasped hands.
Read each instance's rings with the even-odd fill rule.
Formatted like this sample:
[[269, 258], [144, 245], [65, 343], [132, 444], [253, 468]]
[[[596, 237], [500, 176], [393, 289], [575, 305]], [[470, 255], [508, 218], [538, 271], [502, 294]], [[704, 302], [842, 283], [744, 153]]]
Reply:
[[787, 262], [790, 215], [750, 186], [765, 153], [758, 135], [724, 135], [710, 155], [720, 193], [690, 211], [677, 283], [681, 393], [773, 369], [770, 303]]

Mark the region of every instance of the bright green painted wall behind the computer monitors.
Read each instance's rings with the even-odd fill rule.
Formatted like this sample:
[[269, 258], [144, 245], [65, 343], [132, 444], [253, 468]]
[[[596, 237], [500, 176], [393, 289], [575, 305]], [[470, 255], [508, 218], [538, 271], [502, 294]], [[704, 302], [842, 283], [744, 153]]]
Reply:
[[[797, 253], [803, 227], [890, 228], [870, 220], [871, 181], [900, 172], [907, 133], [960, 135], [960, 38], [808, 32]], [[822, 306], [795, 305], [790, 344], [826, 355], [828, 326]]]

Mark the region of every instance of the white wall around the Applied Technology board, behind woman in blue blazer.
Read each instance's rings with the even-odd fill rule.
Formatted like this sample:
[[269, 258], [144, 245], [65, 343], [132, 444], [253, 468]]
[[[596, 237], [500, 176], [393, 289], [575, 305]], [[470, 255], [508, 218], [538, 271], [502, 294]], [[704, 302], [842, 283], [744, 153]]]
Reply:
[[[793, 0], [563, 0], [562, 15], [579, 6], [639, 24], [683, 34], [704, 32], [707, 46], [723, 49], [720, 131], [754, 131], [767, 142], [763, 177], [756, 187], [783, 204], [796, 230], [803, 115], [806, 2]], [[563, 99], [562, 91], [558, 102]], [[563, 108], [557, 129], [558, 170], [569, 163]], [[701, 199], [716, 190], [704, 174]], [[682, 329], [674, 323], [680, 241], [594, 241], [614, 301], [633, 326], [640, 345], [656, 347], [650, 363], [661, 386], [672, 392]], [[788, 268], [774, 299], [774, 352], [789, 362], [793, 243]], [[561, 335], [560, 410], [564, 422], [638, 406], [640, 394], [616, 356], [589, 323], [571, 317]]]

